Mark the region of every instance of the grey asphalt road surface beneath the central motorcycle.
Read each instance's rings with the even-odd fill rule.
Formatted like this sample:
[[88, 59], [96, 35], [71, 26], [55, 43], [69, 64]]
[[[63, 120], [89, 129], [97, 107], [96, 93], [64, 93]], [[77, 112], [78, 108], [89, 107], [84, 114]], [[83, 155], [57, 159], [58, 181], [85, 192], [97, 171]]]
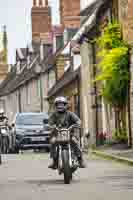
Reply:
[[0, 166], [1, 200], [132, 200], [133, 167], [89, 157], [71, 185], [47, 168], [47, 154], [8, 155]]

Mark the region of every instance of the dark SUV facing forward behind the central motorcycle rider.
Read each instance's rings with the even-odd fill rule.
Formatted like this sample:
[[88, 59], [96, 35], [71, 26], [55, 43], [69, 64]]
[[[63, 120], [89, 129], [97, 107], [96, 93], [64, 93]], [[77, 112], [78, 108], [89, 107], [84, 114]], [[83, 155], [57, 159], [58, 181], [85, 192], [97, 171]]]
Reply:
[[46, 113], [18, 113], [13, 124], [15, 152], [22, 149], [50, 148], [50, 128]]

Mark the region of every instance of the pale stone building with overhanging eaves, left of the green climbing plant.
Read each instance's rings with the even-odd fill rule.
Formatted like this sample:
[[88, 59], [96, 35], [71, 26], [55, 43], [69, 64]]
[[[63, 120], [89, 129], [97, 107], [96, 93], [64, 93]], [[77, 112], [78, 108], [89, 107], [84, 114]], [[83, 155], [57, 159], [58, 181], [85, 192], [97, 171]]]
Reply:
[[90, 145], [99, 143], [99, 136], [111, 137], [115, 129], [115, 115], [103, 101], [99, 85], [93, 80], [97, 74], [97, 46], [91, 41], [97, 38], [107, 21], [118, 18], [115, 1], [93, 0], [84, 4], [81, 10], [82, 26], [73, 37], [72, 42], [80, 44], [81, 53], [81, 117], [84, 135], [90, 133]]

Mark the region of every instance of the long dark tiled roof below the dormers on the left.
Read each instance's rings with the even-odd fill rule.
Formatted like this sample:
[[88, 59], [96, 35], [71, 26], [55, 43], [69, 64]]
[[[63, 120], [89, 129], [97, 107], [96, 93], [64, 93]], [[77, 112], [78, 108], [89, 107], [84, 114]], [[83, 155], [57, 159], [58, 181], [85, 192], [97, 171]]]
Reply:
[[54, 62], [55, 62], [55, 55], [49, 55], [47, 56], [47, 59], [45, 58], [45, 60], [42, 63], [40, 63], [39, 54], [38, 54], [36, 57], [34, 56], [32, 58], [30, 68], [27, 68], [26, 66], [20, 74], [16, 73], [17, 66], [15, 65], [14, 69], [8, 73], [6, 79], [2, 82], [2, 84], [0, 84], [0, 96], [6, 96], [10, 94], [11, 92], [15, 91], [20, 86], [24, 85], [29, 80], [33, 78], [37, 78], [39, 74], [35, 73], [36, 63], [41, 64], [41, 67], [42, 67], [41, 73], [45, 73], [51, 68], [53, 68]]

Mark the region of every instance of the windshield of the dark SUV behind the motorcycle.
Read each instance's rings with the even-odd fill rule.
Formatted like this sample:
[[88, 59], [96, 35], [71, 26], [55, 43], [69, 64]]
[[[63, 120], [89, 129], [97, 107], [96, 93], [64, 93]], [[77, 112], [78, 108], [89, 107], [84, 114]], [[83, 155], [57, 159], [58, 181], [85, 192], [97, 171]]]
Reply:
[[19, 115], [16, 118], [17, 125], [42, 125], [46, 115]]

